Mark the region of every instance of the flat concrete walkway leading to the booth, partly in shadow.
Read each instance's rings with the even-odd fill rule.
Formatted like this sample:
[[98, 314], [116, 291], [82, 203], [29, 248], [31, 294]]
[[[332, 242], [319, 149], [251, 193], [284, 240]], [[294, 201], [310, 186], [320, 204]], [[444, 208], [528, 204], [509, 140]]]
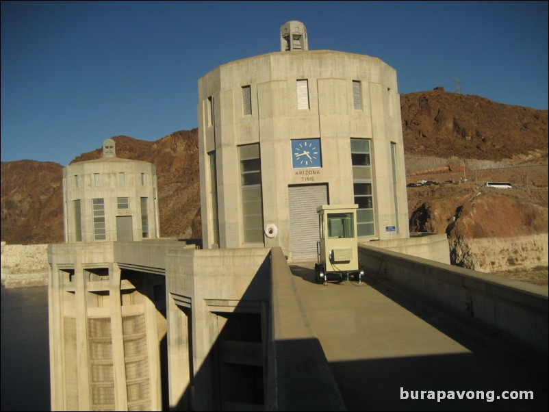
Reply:
[[[548, 410], [546, 374], [472, 339], [444, 311], [387, 280], [318, 285], [313, 266], [295, 263], [292, 274], [349, 411]], [[443, 395], [455, 400], [437, 402]]]

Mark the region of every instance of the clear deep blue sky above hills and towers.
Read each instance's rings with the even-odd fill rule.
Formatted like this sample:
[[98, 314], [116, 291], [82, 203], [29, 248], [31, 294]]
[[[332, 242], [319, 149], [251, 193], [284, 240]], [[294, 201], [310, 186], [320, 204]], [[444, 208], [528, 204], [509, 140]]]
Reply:
[[71, 160], [126, 135], [197, 126], [197, 81], [279, 51], [379, 57], [398, 91], [455, 90], [548, 108], [547, 1], [1, 1], [1, 161]]

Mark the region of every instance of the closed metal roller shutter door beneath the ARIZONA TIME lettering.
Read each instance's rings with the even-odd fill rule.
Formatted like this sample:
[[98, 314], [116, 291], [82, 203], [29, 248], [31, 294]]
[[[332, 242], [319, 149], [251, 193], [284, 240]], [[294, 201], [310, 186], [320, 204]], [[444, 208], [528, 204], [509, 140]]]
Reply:
[[327, 185], [289, 186], [292, 261], [316, 261], [318, 214], [328, 204]]

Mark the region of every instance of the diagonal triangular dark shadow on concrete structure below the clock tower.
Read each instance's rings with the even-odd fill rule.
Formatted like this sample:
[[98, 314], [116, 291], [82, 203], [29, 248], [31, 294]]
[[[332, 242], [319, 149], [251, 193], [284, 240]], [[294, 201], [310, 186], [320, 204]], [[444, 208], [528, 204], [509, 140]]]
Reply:
[[[264, 409], [266, 369], [254, 360], [248, 363], [227, 360], [231, 356], [230, 353], [227, 354], [228, 351], [230, 352], [227, 346], [230, 347], [235, 342], [247, 344], [244, 350], [260, 346], [260, 359], [265, 359], [268, 344], [266, 325], [261, 324], [261, 308], [251, 309], [250, 302], [267, 303], [269, 301], [269, 272], [270, 256], [267, 255], [233, 312], [212, 312], [225, 319], [225, 326], [219, 330], [218, 338], [199, 370], [193, 371], [192, 362], [188, 365], [190, 386], [186, 387], [179, 402], [170, 410], [190, 411], [195, 408], [195, 410], [212, 411], [260, 411]], [[186, 310], [188, 319], [192, 319], [192, 308], [179, 307], [179, 309]], [[197, 333], [191, 322], [188, 328], [190, 334]], [[192, 359], [192, 344], [189, 350], [189, 358]]]

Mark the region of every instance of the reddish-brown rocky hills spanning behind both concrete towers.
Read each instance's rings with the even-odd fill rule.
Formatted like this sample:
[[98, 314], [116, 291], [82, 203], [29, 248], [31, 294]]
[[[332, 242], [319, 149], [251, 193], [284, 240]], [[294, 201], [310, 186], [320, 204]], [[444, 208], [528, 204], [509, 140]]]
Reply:
[[[495, 272], [533, 266], [535, 255], [546, 266], [547, 246], [523, 240], [546, 239], [548, 232], [548, 111], [439, 88], [403, 94], [400, 104], [408, 183], [453, 182], [408, 189], [411, 231], [447, 233], [452, 262], [459, 266]], [[161, 235], [201, 237], [197, 130], [177, 131], [155, 142], [127, 136], [114, 140], [119, 157], [157, 168]], [[100, 149], [73, 162], [98, 157]], [[515, 189], [479, 190], [474, 184], [490, 180], [510, 181]], [[2, 164], [1, 240], [63, 242], [61, 181], [58, 164]], [[508, 244], [487, 251], [472, 241], [496, 238]], [[496, 259], [498, 254], [507, 255]]]

